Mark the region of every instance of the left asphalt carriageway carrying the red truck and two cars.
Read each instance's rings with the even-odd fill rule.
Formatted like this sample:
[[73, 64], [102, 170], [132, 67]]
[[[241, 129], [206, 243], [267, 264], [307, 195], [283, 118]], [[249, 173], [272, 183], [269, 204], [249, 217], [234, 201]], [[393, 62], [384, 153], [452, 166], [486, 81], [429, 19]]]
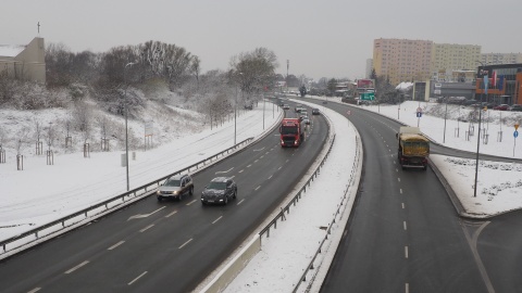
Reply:
[[[181, 202], [149, 196], [2, 260], [0, 292], [191, 291], [278, 206], [313, 163], [328, 129], [322, 116], [311, 118], [298, 149], [282, 149], [276, 128], [194, 175], [192, 196]], [[226, 206], [202, 206], [202, 189], [219, 176], [234, 177], [237, 199]]]

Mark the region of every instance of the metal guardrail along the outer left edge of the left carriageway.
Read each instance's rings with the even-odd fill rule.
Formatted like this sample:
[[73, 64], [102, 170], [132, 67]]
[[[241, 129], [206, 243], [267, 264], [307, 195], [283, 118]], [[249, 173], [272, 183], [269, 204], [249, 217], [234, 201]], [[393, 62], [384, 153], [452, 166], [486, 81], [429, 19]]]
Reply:
[[[214, 163], [215, 161], [217, 161], [220, 158], [220, 156], [223, 157], [225, 154], [228, 154], [229, 152], [236, 151], [237, 149], [243, 148], [246, 144], [249, 144], [253, 139], [254, 138], [248, 138], [246, 140], [237, 143], [234, 146], [231, 146], [231, 148], [228, 148], [228, 149], [226, 149], [226, 150], [224, 150], [224, 151], [222, 151], [217, 154], [209, 156], [209, 157], [207, 157], [207, 158], [204, 158], [204, 160], [202, 160], [198, 163], [195, 163], [195, 164], [192, 164], [192, 165], [190, 165], [190, 166], [188, 166], [184, 169], [181, 169], [181, 170], [177, 170], [173, 174], [163, 176], [163, 177], [161, 177], [161, 178], [159, 178], [159, 179], [157, 179], [152, 182], [149, 182], [149, 183], [144, 184], [141, 187], [129, 190], [125, 193], [116, 195], [116, 196], [114, 196], [112, 199], [109, 199], [107, 201], [94, 204], [94, 205], [91, 205], [87, 208], [84, 208], [82, 211], [78, 211], [76, 213], [67, 215], [63, 218], [53, 220], [53, 221], [48, 222], [44, 226], [40, 226], [40, 227], [35, 228], [33, 230], [29, 230], [27, 232], [24, 232], [24, 233], [21, 233], [18, 235], [15, 235], [15, 237], [9, 238], [7, 240], [0, 241], [0, 246], [2, 247], [2, 252], [0, 252], [0, 259], [2, 258], [2, 256], [4, 254], [7, 254], [11, 251], [21, 249], [24, 245], [30, 244], [32, 242], [36, 242], [36, 241], [41, 240], [46, 237], [52, 235], [53, 233], [57, 233], [58, 231], [61, 231], [61, 230], [66, 229], [69, 227], [72, 227], [76, 224], [79, 224], [79, 222], [82, 222], [83, 220], [85, 220], [89, 217], [100, 215], [100, 214], [105, 213], [108, 211], [115, 211], [114, 207], [120, 206], [121, 204], [126, 203], [128, 201], [136, 200], [139, 196], [142, 196], [142, 198], [148, 196], [150, 194], [147, 194], [147, 193], [149, 193], [152, 189], [158, 188], [159, 184], [163, 180], [165, 180], [166, 178], [169, 178], [171, 176], [174, 176], [174, 175], [177, 175], [177, 174], [185, 173], [185, 171], [189, 173], [190, 170], [199, 169], [200, 166], [206, 166], [207, 164]], [[127, 201], [125, 201], [125, 200], [127, 200]], [[119, 202], [119, 203], [115, 203], [115, 202]], [[113, 204], [113, 205], [110, 206], [110, 204]], [[57, 227], [57, 226], [58, 226], [57, 229], [54, 229], [54, 230], [51, 229], [51, 228]], [[49, 231], [46, 232], [45, 230], [49, 230]], [[14, 244], [14, 243], [16, 243], [16, 244]], [[12, 247], [10, 247], [10, 244], [12, 244]]]

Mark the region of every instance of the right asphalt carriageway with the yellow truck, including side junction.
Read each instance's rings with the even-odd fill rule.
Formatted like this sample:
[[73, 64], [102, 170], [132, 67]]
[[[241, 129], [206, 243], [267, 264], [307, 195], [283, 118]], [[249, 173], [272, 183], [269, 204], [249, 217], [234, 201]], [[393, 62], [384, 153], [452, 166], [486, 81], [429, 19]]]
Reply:
[[[522, 292], [522, 212], [460, 218], [431, 168], [398, 166], [397, 122], [327, 106], [358, 128], [364, 162], [356, 205], [321, 292]], [[436, 144], [432, 153], [476, 155]]]

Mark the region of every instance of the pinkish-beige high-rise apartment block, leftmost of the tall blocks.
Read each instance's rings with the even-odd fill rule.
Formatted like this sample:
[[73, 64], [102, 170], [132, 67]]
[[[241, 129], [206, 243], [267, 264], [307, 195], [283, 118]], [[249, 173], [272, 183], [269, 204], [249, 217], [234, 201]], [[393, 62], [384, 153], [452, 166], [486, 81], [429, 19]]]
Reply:
[[431, 76], [432, 50], [431, 40], [375, 39], [373, 67], [377, 76], [386, 76], [391, 85], [427, 80]]

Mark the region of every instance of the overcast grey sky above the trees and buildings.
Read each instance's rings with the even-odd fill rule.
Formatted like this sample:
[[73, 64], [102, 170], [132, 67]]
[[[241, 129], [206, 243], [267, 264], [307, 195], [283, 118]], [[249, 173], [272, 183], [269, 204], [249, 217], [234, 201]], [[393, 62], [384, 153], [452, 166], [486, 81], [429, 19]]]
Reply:
[[522, 52], [520, 0], [2, 0], [0, 44], [37, 34], [73, 52], [104, 52], [148, 40], [184, 47], [202, 72], [264, 47], [277, 73], [318, 80], [364, 77], [373, 40], [401, 38]]

